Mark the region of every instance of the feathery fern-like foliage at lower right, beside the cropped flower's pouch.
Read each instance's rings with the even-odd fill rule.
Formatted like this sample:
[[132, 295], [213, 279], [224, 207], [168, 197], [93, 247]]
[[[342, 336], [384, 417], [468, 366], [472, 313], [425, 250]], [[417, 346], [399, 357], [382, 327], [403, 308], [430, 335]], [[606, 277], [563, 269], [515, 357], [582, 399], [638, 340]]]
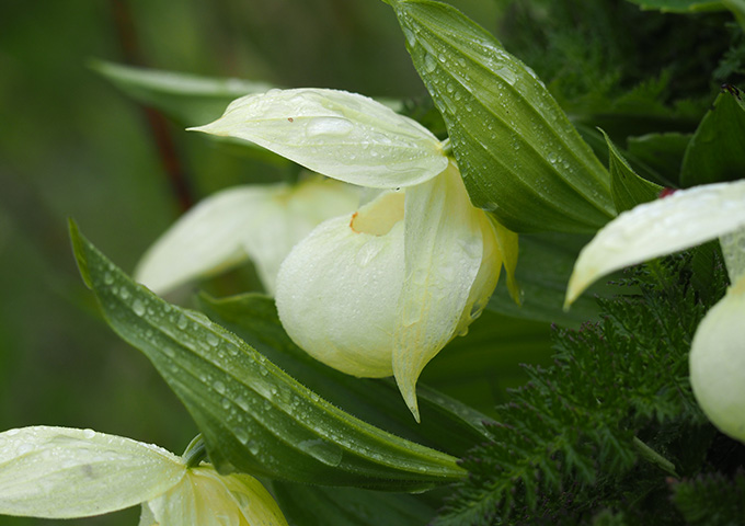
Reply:
[[681, 523], [667, 480], [700, 472], [717, 435], [688, 348], [726, 276], [703, 247], [627, 284], [635, 293], [601, 300], [600, 322], [555, 331], [552, 367], [526, 367], [530, 381], [498, 408], [495, 439], [462, 459], [469, 478], [435, 524]]

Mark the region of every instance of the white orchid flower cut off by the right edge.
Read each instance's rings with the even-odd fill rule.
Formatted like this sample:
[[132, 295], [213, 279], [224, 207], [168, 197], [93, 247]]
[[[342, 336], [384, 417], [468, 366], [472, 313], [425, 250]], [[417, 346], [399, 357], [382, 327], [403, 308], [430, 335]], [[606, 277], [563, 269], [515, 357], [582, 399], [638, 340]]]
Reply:
[[618, 216], [580, 253], [566, 305], [603, 275], [715, 238], [732, 285], [696, 331], [690, 381], [709, 420], [745, 442], [745, 181], [678, 191]]

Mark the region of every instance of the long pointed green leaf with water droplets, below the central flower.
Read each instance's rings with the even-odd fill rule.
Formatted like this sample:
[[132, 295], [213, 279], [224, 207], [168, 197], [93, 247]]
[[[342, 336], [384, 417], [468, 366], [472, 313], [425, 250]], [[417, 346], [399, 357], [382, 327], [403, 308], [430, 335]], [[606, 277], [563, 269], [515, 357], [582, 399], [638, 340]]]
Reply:
[[336, 409], [206, 316], [135, 284], [71, 226], [106, 321], [152, 362], [196, 421], [221, 472], [414, 490], [462, 476], [455, 458]]

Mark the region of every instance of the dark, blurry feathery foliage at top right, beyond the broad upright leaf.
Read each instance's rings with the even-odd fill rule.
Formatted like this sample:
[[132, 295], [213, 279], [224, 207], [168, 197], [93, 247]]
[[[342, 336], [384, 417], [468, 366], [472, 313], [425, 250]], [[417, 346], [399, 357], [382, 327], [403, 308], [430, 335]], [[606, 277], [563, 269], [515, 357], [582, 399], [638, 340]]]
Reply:
[[[695, 128], [715, 95], [712, 72], [732, 53], [730, 18], [672, 16], [626, 0], [513, 1], [496, 33], [575, 122], [624, 139]], [[737, 66], [730, 57], [726, 67]]]

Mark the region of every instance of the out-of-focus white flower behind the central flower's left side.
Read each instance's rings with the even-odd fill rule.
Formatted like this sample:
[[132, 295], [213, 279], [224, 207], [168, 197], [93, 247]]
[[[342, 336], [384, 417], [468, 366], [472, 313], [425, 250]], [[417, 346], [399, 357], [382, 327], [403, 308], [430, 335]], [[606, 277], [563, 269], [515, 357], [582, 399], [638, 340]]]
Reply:
[[253, 261], [268, 294], [279, 264], [317, 225], [354, 210], [357, 190], [311, 176], [296, 185], [245, 185], [218, 192], [184, 214], [148, 249], [135, 279], [158, 294]]

